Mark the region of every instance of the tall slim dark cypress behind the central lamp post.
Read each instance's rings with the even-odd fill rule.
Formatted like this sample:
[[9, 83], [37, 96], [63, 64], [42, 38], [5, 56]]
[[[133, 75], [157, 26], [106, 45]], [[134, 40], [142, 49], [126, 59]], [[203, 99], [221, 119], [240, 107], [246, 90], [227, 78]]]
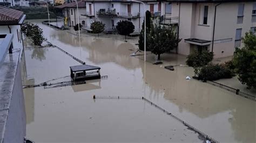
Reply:
[[[151, 19], [151, 12], [150, 11], [146, 11], [146, 33], [150, 32], [151, 29], [151, 25], [152, 25], [152, 19]], [[142, 31], [140, 31], [139, 34], [139, 49], [144, 51], [144, 23], [145, 23], [145, 19], [143, 20], [142, 23]], [[146, 41], [147, 41], [147, 37], [146, 37]], [[146, 51], [149, 51], [149, 48], [147, 48], [149, 46], [149, 44], [146, 42]]]

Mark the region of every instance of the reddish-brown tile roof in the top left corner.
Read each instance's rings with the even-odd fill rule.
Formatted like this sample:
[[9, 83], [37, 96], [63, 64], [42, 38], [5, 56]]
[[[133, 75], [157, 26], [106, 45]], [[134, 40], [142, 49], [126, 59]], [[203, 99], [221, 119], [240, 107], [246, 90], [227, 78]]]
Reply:
[[8, 25], [9, 23], [18, 23], [24, 13], [15, 9], [0, 6], [0, 23]]

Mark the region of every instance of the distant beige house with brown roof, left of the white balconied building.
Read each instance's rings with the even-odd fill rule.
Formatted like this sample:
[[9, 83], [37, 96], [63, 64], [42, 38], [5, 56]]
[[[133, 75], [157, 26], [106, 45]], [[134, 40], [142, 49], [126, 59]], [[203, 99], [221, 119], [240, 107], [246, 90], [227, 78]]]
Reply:
[[[77, 14], [78, 4], [78, 14]], [[77, 15], [79, 17], [79, 23], [85, 26], [86, 17], [82, 16], [82, 13], [86, 13], [86, 5], [83, 1], [66, 3], [63, 5], [55, 6], [55, 8], [62, 9], [64, 19], [67, 19], [66, 26], [75, 26], [78, 24]]]

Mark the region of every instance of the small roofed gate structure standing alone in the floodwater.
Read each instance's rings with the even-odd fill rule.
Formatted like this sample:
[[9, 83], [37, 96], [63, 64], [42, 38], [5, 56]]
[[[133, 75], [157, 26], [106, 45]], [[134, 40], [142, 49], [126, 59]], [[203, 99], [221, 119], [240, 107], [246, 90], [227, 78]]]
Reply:
[[100, 67], [78, 65], [70, 67], [70, 76], [73, 81], [95, 80], [100, 78]]

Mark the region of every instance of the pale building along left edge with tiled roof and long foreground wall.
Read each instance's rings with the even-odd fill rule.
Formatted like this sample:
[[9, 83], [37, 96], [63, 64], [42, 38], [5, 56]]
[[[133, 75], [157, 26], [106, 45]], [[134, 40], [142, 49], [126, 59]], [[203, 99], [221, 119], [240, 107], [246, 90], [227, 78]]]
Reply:
[[26, 113], [21, 77], [22, 11], [0, 6], [0, 142], [23, 143]]

